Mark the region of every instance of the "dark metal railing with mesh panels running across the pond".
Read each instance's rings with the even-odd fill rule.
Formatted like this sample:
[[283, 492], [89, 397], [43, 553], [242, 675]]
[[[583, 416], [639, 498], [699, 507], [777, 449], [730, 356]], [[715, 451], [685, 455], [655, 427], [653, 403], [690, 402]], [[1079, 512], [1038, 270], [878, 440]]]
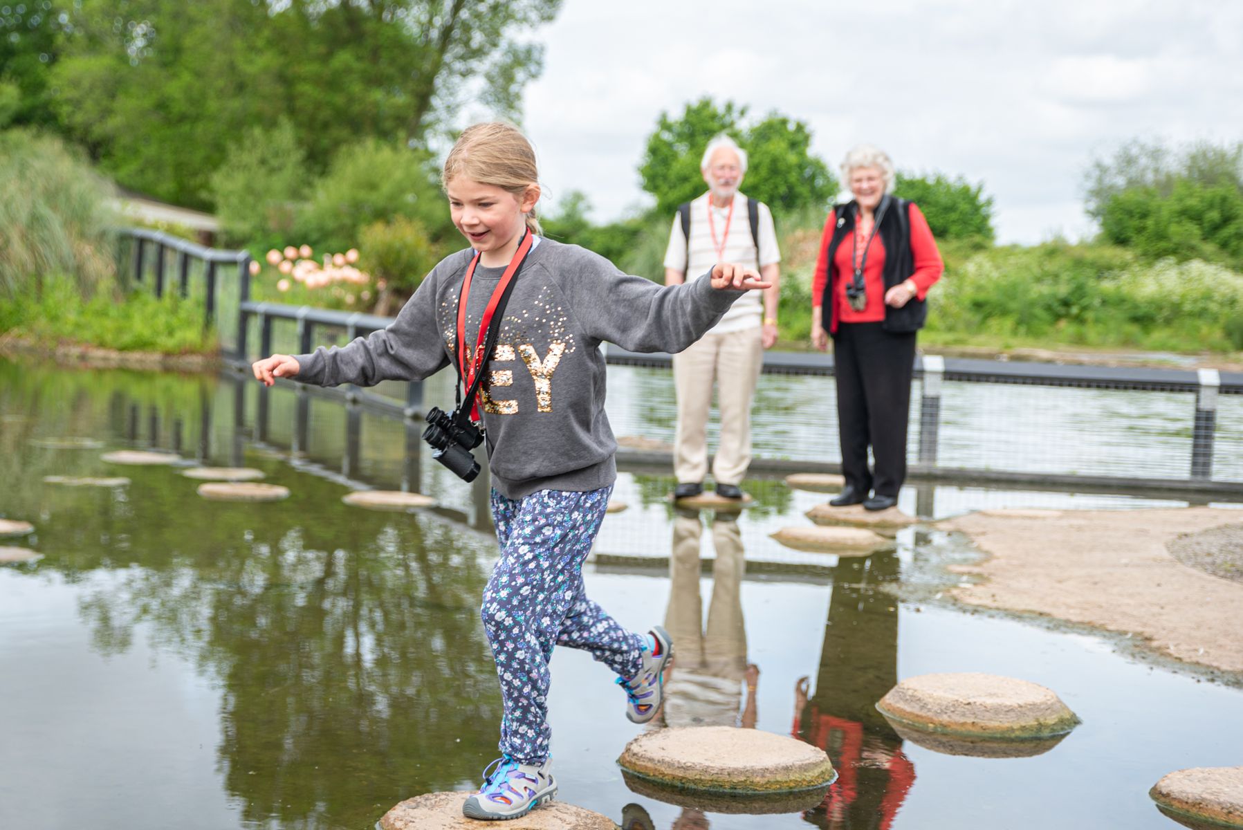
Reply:
[[[378, 317], [358, 312], [339, 312], [307, 306], [288, 306], [282, 303], [255, 302], [250, 299], [250, 256], [239, 251], [214, 251], [154, 231], [133, 231], [139, 241], [135, 256], [135, 275], [142, 273], [143, 245], [157, 246], [157, 260], [163, 261], [164, 250], [178, 252], [179, 285], [184, 292], [184, 275], [189, 257], [199, 257], [208, 263], [208, 297], [216, 294], [218, 278], [215, 265], [230, 263], [237, 268], [239, 302], [236, 308], [236, 337], [232, 343], [221, 339], [221, 352], [235, 368], [245, 368], [257, 355], [273, 352], [273, 323], [283, 321], [296, 326], [296, 348], [298, 353], [311, 352], [316, 344], [329, 339], [329, 333], [344, 334], [346, 342], [385, 328], [393, 322], [389, 317]], [[157, 293], [163, 290], [163, 266], [154, 277]], [[140, 278], [139, 278], [140, 281]], [[214, 301], [208, 303], [209, 319], [215, 312]], [[251, 350], [250, 332], [255, 327], [257, 348]], [[317, 332], [324, 337], [317, 337]], [[287, 342], [287, 340], [286, 340]], [[669, 354], [639, 354], [626, 352], [617, 345], [605, 347], [605, 360], [614, 367], [638, 367], [667, 370], [672, 359]], [[822, 353], [768, 352], [764, 354], [763, 373], [766, 375], [833, 376], [833, 358]], [[1050, 486], [1059, 488], [1093, 488], [1111, 491], [1182, 491], [1224, 495], [1238, 497], [1243, 495], [1243, 481], [1229, 481], [1213, 477], [1214, 436], [1218, 431], [1218, 404], [1222, 396], [1243, 395], [1243, 373], [1217, 372], [1213, 369], [1180, 370], [1139, 367], [1099, 367], [1099, 365], [1062, 365], [1052, 363], [1021, 363], [1004, 360], [983, 360], [971, 358], [942, 358], [922, 355], [916, 359], [915, 379], [919, 383], [917, 411], [912, 411], [912, 435], [917, 442], [911, 447], [909, 475], [912, 480], [951, 480], [1016, 486]], [[293, 381], [290, 381], [293, 383]], [[1186, 476], [1171, 475], [1162, 468], [1160, 473], [1141, 473], [1135, 470], [1126, 475], [1094, 475], [1080, 472], [1042, 472], [1033, 470], [993, 468], [992, 458], [977, 463], [955, 463], [943, 460], [943, 396], [946, 384], [994, 384], [1044, 388], [1075, 388], [1089, 390], [1122, 390], [1136, 393], [1176, 393], [1195, 395], [1195, 416], [1187, 427], [1191, 430], [1190, 457], [1186, 458]], [[321, 390], [317, 390], [317, 393]], [[327, 398], [346, 400], [365, 409], [388, 416], [406, 420], [421, 419], [424, 414], [423, 381], [405, 383], [405, 394], [398, 399], [390, 395], [368, 391], [353, 385], [341, 389], [322, 390]], [[1190, 400], [1190, 398], [1188, 398]], [[257, 429], [266, 430], [266, 406], [261, 399]], [[914, 406], [912, 406], [914, 410]], [[300, 416], [306, 414], [300, 411]], [[1064, 429], [1064, 427], [1063, 427]], [[1065, 441], [1081, 436], [1058, 435], [1054, 440]], [[1233, 444], [1229, 445], [1233, 447]], [[619, 460], [630, 465], [670, 463], [667, 450], [619, 450]], [[774, 457], [759, 455], [752, 462], [757, 471], [834, 471], [838, 465], [824, 460], [802, 457]]]

